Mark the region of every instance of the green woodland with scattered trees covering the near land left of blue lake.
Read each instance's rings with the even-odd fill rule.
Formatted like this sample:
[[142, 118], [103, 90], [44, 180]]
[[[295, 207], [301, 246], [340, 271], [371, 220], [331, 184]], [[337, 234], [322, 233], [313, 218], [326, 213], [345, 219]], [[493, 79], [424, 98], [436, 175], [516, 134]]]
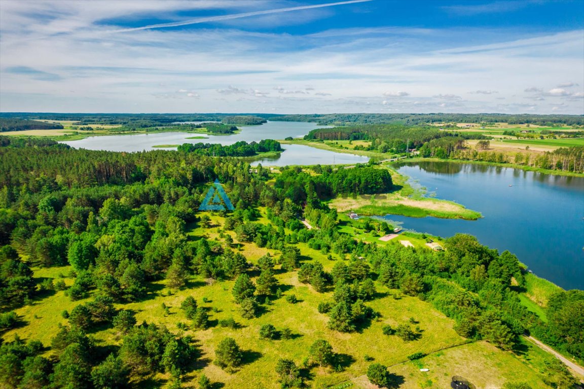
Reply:
[[[210, 148], [117, 153], [0, 138], [0, 331], [26, 325], [14, 310], [42, 304], [55, 291], [66, 290], [69, 299], [84, 300], [61, 313], [68, 325], [54, 333], [50, 344], [2, 341], [2, 387], [152, 386], [157, 373], [167, 374], [169, 387], [181, 387], [203, 366], [201, 341], [192, 334], [213, 326], [237, 333], [237, 318], [213, 321], [212, 312], [201, 306], [204, 301], [187, 297], [179, 314], [187, 324], [181, 324], [184, 331], [172, 332], [155, 322], [137, 323], [135, 312], [124, 304], [156, 294], [154, 285], [161, 280], [176, 290], [193, 288], [194, 277], [209, 285], [233, 285], [230, 293], [239, 314], [252, 322], [270, 302], [297, 302], [294, 289], [288, 291], [294, 287], [276, 279], [289, 273], [317, 293], [332, 292], [332, 298], [321, 299], [314, 315], [339, 334], [358, 333], [378, 320], [380, 313], [372, 306], [380, 299], [378, 289], [389, 288], [431, 303], [470, 341], [484, 339], [516, 352], [519, 338], [531, 333], [584, 358], [584, 292], [559, 290], [550, 300], [547, 321], [541, 320], [520, 303], [524, 271], [508, 251], [499, 253], [465, 234], [445, 240], [446, 251], [434, 252], [364, 244], [340, 232], [339, 215], [326, 200], [391, 191], [394, 183], [387, 169], [286, 167], [274, 173], [196, 150]], [[235, 211], [217, 212], [224, 220], [223, 240], [194, 239], [191, 229], [210, 226], [209, 217], [197, 209], [215, 179], [224, 184]], [[267, 223], [258, 221], [262, 207], [267, 209]], [[385, 223], [367, 223], [368, 229], [389, 229]], [[234, 249], [232, 233], [243, 244], [269, 248], [277, 255], [252, 261]], [[301, 255], [300, 243], [334, 256], [332, 269]], [[33, 276], [32, 268], [64, 265], [71, 266], [72, 285]], [[227, 284], [230, 281], [235, 283]], [[404, 342], [429, 336], [415, 323], [412, 318], [386, 325], [378, 336]], [[98, 342], [92, 335], [104, 328], [116, 334], [116, 345]], [[274, 325], [264, 325], [259, 332], [261, 339], [300, 336]], [[276, 374], [281, 387], [310, 386], [314, 369], [342, 371], [351, 363], [336, 355], [327, 339], [315, 341], [305, 352], [303, 363], [274, 356], [276, 371], [269, 374]], [[237, 375], [238, 367], [249, 363], [249, 353], [244, 358], [238, 341], [227, 337], [217, 345], [213, 363]], [[395, 385], [397, 377], [385, 366], [373, 363], [369, 370], [372, 382]], [[557, 364], [550, 365], [545, 383], [567, 388], [575, 381]], [[204, 374], [197, 387], [211, 387]]]

